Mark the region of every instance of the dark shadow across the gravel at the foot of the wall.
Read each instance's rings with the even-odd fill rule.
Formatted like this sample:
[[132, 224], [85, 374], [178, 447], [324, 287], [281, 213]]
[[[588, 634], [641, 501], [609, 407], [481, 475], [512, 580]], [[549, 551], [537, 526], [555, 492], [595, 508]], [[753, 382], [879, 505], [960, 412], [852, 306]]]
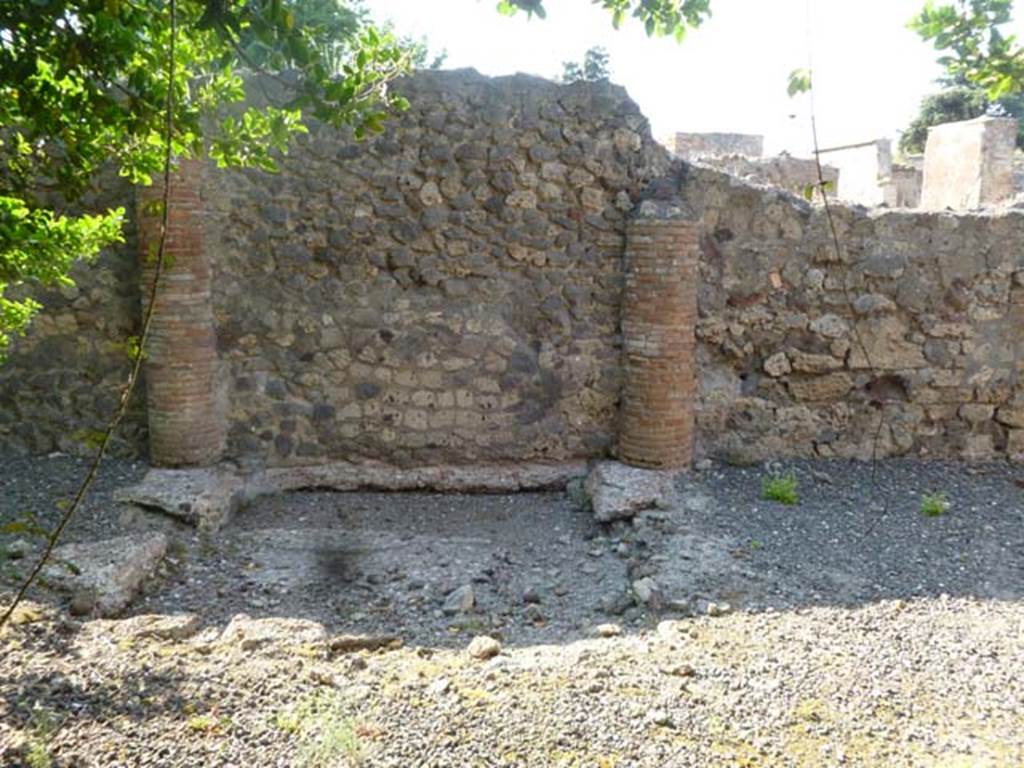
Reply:
[[[764, 501], [762, 467], [680, 480], [670, 509], [602, 526], [564, 494], [302, 492], [260, 500], [137, 611], [238, 612], [460, 645], [564, 642], [711, 610], [1024, 596], [1021, 473], [1008, 465], [788, 463], [799, 502]], [[942, 493], [948, 511], [921, 512]], [[635, 587], [653, 585], [646, 603]], [[472, 592], [467, 611], [445, 608]], [[642, 585], [641, 585], [642, 589]]]

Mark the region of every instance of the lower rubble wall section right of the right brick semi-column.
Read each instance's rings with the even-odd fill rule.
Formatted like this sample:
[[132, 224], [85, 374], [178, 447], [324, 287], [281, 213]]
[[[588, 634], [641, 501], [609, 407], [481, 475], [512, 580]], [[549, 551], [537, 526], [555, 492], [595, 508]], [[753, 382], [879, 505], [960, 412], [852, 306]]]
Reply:
[[1024, 453], [1024, 214], [838, 206], [838, 260], [819, 208], [708, 170], [684, 190], [698, 453], [867, 458], [880, 415], [882, 456]]

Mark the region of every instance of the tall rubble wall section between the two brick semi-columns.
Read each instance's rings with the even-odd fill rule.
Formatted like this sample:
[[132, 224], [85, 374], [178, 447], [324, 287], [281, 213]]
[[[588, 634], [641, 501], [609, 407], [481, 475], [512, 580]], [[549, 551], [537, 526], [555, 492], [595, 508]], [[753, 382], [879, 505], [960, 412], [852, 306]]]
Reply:
[[668, 159], [626, 92], [427, 73], [357, 143], [210, 172], [227, 456], [564, 460], [614, 443], [626, 215]]

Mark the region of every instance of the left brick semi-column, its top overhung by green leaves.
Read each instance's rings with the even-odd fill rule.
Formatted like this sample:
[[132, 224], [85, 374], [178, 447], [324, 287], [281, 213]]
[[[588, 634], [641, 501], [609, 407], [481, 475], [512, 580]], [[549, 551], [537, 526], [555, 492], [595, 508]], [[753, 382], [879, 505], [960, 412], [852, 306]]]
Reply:
[[[157, 292], [145, 358], [150, 461], [158, 467], [202, 467], [220, 459], [224, 425], [215, 396], [217, 345], [210, 258], [203, 250], [203, 165], [182, 161], [171, 177], [166, 263]], [[139, 259], [143, 311], [156, 268], [163, 179], [139, 187]]]

